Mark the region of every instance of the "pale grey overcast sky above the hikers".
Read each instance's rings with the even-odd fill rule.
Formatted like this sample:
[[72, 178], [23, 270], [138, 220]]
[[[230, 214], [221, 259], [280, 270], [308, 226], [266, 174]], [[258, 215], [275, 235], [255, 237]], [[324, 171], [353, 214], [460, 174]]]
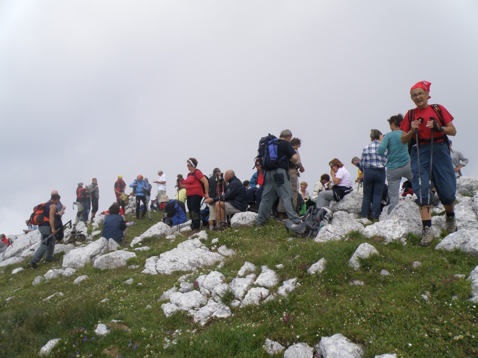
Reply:
[[260, 137], [285, 128], [309, 189], [335, 157], [355, 176], [421, 80], [478, 176], [477, 20], [477, 0], [0, 0], [0, 233], [52, 189], [73, 218], [93, 177], [100, 211], [119, 174], [162, 169], [172, 196], [189, 157], [250, 179]]

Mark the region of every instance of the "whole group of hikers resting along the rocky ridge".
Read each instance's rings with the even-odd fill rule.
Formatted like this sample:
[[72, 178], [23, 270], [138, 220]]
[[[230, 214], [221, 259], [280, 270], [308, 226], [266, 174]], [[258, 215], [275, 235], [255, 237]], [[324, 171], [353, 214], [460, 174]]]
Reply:
[[[388, 182], [388, 214], [398, 203], [402, 178], [411, 182], [417, 196], [422, 232], [420, 245], [428, 246], [434, 235], [432, 231], [431, 206], [433, 196], [441, 201], [445, 208], [446, 230], [457, 231], [454, 205], [456, 180], [468, 159], [460, 152], [451, 149], [448, 136], [456, 135], [453, 116], [439, 104], [428, 104], [430, 83], [420, 81], [410, 89], [410, 96], [416, 107], [407, 111], [405, 116], [393, 115], [388, 119], [390, 132], [382, 135], [377, 129], [370, 131], [370, 143], [364, 146], [362, 154], [352, 159], [359, 168], [355, 182], [363, 186], [363, 199], [360, 216], [378, 220], [381, 213], [385, 179]], [[141, 175], [126, 186], [122, 176], [114, 184], [117, 201], [105, 214], [103, 236], [121, 242], [126, 231], [124, 220], [125, 205], [131, 196], [136, 200], [136, 218], [144, 219], [150, 210], [164, 211], [163, 221], [169, 225], [179, 225], [186, 221], [186, 205], [191, 219], [191, 229], [198, 232], [201, 221], [209, 229], [221, 229], [228, 226], [228, 217], [246, 210], [258, 213], [256, 225], [263, 226], [270, 216], [286, 219], [292, 231], [303, 231], [303, 214], [308, 206], [328, 207], [332, 200], [340, 201], [354, 190], [353, 179], [344, 164], [334, 158], [329, 162], [330, 175], [324, 174], [314, 185], [310, 194], [305, 181], [299, 183], [300, 174], [305, 171], [298, 149], [301, 141], [292, 137], [292, 132], [283, 130], [279, 138], [269, 135], [261, 139], [258, 156], [254, 161], [254, 174], [250, 180], [241, 182], [234, 170], [224, 174], [219, 168], [213, 170], [210, 178], [197, 168], [198, 161], [188, 158], [186, 179], [181, 174], [176, 180], [176, 195], [170, 199], [166, 194], [166, 176], [158, 170], [157, 196], [151, 200], [152, 186]], [[126, 194], [131, 188], [132, 192]], [[91, 185], [77, 187], [77, 218], [87, 223], [91, 208], [91, 219], [98, 212], [98, 180], [92, 179]], [[36, 264], [47, 253], [46, 261], [52, 260], [55, 241], [52, 238], [58, 230], [55, 216], [61, 218], [64, 206], [60, 203], [58, 192], [52, 192], [50, 201], [45, 205], [46, 220], [39, 225], [41, 233], [40, 248], [28, 264]], [[186, 204], [186, 205], [185, 205]], [[208, 215], [201, 207], [209, 207]], [[302, 231], [301, 231], [302, 230]], [[106, 235], [106, 236], [105, 236]], [[108, 237], [107, 237], [108, 236]], [[61, 239], [60, 239], [61, 240]], [[53, 243], [53, 244], [52, 244]], [[53, 248], [52, 248], [53, 247]]]

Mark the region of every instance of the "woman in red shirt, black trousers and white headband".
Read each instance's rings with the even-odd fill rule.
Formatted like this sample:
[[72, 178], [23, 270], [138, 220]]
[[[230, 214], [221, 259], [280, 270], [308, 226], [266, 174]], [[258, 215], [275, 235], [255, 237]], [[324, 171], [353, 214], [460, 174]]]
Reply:
[[209, 181], [199, 169], [196, 169], [198, 161], [196, 158], [189, 158], [186, 162], [188, 175], [181, 184], [181, 189], [186, 188], [186, 204], [188, 205], [189, 216], [193, 233], [199, 231], [201, 225], [201, 200], [209, 198]]

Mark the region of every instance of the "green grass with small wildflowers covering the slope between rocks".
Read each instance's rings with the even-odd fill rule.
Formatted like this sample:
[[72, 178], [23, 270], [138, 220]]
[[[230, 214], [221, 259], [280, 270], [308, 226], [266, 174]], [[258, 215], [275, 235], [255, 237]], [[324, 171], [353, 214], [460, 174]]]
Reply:
[[[129, 227], [128, 238], [143, 233], [160, 218], [137, 221]], [[131, 218], [130, 220], [135, 220]], [[476, 258], [460, 252], [434, 250], [418, 246], [419, 238], [410, 234], [407, 245], [385, 245], [381, 238], [366, 239], [351, 233], [348, 241], [317, 244], [290, 235], [278, 222], [261, 229], [241, 228], [209, 234], [210, 240], [236, 250], [219, 269], [230, 282], [249, 261], [275, 269], [279, 279], [298, 278], [300, 285], [287, 297], [254, 307], [232, 308], [233, 316], [217, 319], [205, 326], [195, 324], [187, 313], [166, 318], [161, 309], [161, 294], [178, 285], [186, 272], [172, 275], [141, 273], [148, 257], [175, 248], [185, 236], [174, 242], [149, 238], [143, 245], [148, 252], [135, 252], [129, 264], [138, 269], [101, 271], [87, 265], [73, 277], [62, 277], [32, 286], [37, 275], [57, 264], [41, 264], [11, 275], [3, 268], [0, 275], [0, 357], [33, 357], [52, 338], [61, 338], [52, 357], [269, 357], [262, 349], [266, 338], [284, 346], [306, 342], [319, 343], [322, 336], [341, 333], [364, 348], [364, 357], [396, 353], [398, 357], [476, 357], [478, 355], [478, 318], [476, 304], [470, 298], [470, 282], [456, 274], [469, 273], [478, 265]], [[368, 242], [379, 256], [362, 261], [362, 269], [348, 267], [357, 247]], [[61, 255], [57, 255], [61, 258]], [[320, 258], [327, 260], [325, 271], [310, 276], [307, 269]], [[422, 266], [413, 269], [412, 263]], [[215, 269], [215, 268], [211, 268]], [[211, 269], [196, 272], [190, 280]], [[380, 270], [389, 271], [381, 276]], [[78, 285], [73, 280], [86, 274]], [[10, 278], [13, 278], [10, 280]], [[131, 285], [123, 282], [133, 278]], [[349, 282], [363, 281], [363, 286]], [[63, 292], [50, 301], [43, 298]], [[426, 291], [430, 299], [421, 295]], [[7, 297], [14, 298], [5, 302]], [[452, 296], [457, 296], [452, 299]], [[109, 300], [100, 303], [104, 298]], [[223, 301], [233, 300], [226, 292]], [[147, 305], [151, 309], [146, 309]], [[119, 323], [110, 324], [112, 319]], [[107, 324], [111, 333], [98, 337], [98, 323]], [[165, 345], [169, 342], [169, 346]], [[174, 343], [173, 343], [174, 342]]]

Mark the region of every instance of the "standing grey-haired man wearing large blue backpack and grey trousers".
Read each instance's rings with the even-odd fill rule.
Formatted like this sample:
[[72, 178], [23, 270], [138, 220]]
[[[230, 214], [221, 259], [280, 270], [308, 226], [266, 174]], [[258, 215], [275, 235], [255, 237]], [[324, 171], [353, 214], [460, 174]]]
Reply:
[[285, 212], [292, 221], [291, 230], [300, 226], [302, 221], [292, 207], [292, 188], [289, 182], [289, 161], [297, 162], [298, 155], [290, 144], [292, 132], [284, 129], [277, 139], [273, 135], [261, 138], [257, 159], [264, 170], [262, 198], [257, 216], [257, 226], [263, 226], [270, 216], [272, 205], [279, 197]]

